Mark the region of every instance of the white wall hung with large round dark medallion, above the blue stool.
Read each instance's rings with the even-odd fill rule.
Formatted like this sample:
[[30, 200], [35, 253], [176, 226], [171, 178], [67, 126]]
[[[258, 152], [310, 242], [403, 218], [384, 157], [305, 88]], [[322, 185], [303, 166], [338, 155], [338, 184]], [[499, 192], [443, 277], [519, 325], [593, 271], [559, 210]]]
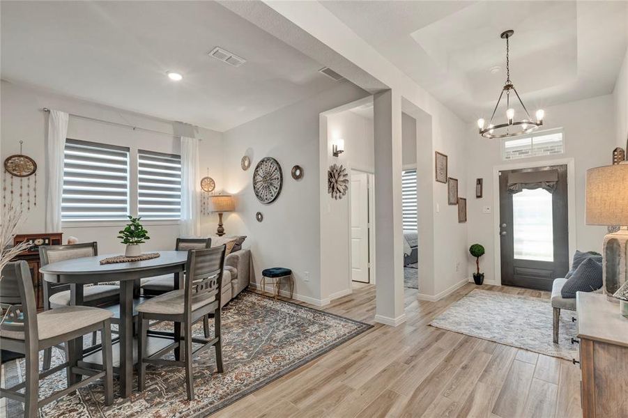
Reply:
[[[223, 133], [225, 189], [236, 196], [237, 205], [236, 212], [225, 214], [225, 230], [230, 235], [248, 235], [254, 279], [258, 282], [265, 268], [291, 268], [295, 297], [314, 304], [324, 302], [319, 114], [366, 95], [349, 82], [339, 82], [331, 90]], [[240, 159], [245, 153], [252, 160], [248, 171], [240, 169]], [[263, 157], [274, 157], [281, 164], [284, 177], [279, 198], [269, 205], [259, 203], [251, 185], [254, 167]], [[290, 175], [295, 164], [305, 172], [299, 181]], [[264, 216], [261, 223], [255, 221], [258, 211]]]

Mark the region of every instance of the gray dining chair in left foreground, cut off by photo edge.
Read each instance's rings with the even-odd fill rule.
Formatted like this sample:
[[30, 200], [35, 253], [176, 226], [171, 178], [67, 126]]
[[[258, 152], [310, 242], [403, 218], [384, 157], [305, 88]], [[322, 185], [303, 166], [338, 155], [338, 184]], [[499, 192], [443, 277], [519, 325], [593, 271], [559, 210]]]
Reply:
[[[0, 388], [0, 398], [11, 398], [24, 403], [24, 417], [38, 416], [38, 408], [55, 401], [61, 396], [75, 392], [79, 387], [89, 385], [102, 378], [105, 383], [105, 404], [113, 403], [112, 336], [110, 318], [112, 313], [94, 307], [60, 307], [37, 314], [35, 293], [31, 273], [26, 261], [8, 263], [2, 272], [3, 284], [13, 281], [14, 286], [3, 286], [3, 290], [13, 288], [20, 295], [21, 304], [3, 306], [3, 319], [0, 323], [0, 345], [6, 350], [20, 353], [25, 357], [26, 371], [24, 382], [13, 387]], [[16, 295], [13, 295], [15, 297]], [[6, 312], [4, 312], [6, 308]], [[65, 342], [68, 350], [75, 350], [71, 341], [84, 334], [100, 330], [102, 339], [102, 370], [84, 369], [78, 364], [70, 364], [69, 358], [52, 369], [39, 373], [39, 352]], [[70, 354], [72, 354], [70, 352]], [[39, 381], [58, 371], [66, 369], [68, 376], [76, 371], [89, 376], [70, 384], [46, 398], [39, 400]], [[18, 392], [24, 389], [24, 392]]]

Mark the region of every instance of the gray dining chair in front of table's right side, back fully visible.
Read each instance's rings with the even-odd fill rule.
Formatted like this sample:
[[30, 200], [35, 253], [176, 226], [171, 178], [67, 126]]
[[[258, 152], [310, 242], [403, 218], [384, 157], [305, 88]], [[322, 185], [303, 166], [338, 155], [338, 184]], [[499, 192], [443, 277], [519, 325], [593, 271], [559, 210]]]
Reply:
[[[200, 350], [213, 346], [216, 350], [216, 366], [222, 373], [222, 337], [220, 334], [220, 289], [224, 252], [226, 247], [210, 249], [192, 249], [187, 253], [185, 264], [185, 288], [155, 296], [137, 307], [139, 311], [139, 330], [137, 344], [137, 378], [139, 391], [146, 387], [146, 364], [174, 364], [185, 367], [185, 387], [187, 399], [194, 400], [194, 380], [192, 374], [192, 356]], [[192, 324], [212, 313], [214, 316], [214, 337], [205, 339], [192, 336]], [[146, 339], [149, 320], [181, 323], [181, 336], [175, 335], [173, 343], [158, 353], [146, 355]], [[160, 358], [169, 350], [181, 348], [183, 341], [183, 360]], [[202, 346], [192, 351], [192, 343]]]

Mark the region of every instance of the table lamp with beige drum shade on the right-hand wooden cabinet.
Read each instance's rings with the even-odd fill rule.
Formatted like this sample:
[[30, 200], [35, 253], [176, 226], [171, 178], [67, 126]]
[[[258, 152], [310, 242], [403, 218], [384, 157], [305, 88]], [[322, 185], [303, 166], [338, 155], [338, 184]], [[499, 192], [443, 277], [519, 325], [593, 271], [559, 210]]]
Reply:
[[626, 283], [628, 270], [628, 162], [587, 170], [586, 223], [620, 225], [604, 237], [604, 294], [613, 295]]

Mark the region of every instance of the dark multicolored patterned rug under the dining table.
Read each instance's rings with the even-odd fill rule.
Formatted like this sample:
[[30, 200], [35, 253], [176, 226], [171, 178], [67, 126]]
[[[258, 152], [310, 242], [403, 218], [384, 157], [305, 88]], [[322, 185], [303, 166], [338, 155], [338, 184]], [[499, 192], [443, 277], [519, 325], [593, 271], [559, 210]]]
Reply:
[[[161, 329], [169, 329], [169, 325], [163, 325]], [[106, 407], [98, 381], [46, 405], [40, 410], [40, 417], [204, 417], [371, 327], [245, 291], [223, 309], [224, 373], [216, 372], [213, 348], [194, 357], [194, 401], [187, 401], [183, 368], [148, 365], [146, 390], [142, 393], [133, 392], [128, 399], [116, 397], [114, 405]], [[194, 334], [203, 335], [201, 324], [194, 327]], [[54, 366], [61, 362], [62, 353], [59, 350], [53, 353]], [[22, 362], [5, 366], [3, 376], [7, 380], [21, 381]], [[40, 398], [52, 392], [51, 389], [66, 387], [65, 371], [55, 373], [40, 385]], [[134, 385], [137, 388], [137, 380]], [[117, 393], [115, 378], [114, 390]], [[22, 409], [22, 404], [9, 401], [8, 415], [16, 408]]]

